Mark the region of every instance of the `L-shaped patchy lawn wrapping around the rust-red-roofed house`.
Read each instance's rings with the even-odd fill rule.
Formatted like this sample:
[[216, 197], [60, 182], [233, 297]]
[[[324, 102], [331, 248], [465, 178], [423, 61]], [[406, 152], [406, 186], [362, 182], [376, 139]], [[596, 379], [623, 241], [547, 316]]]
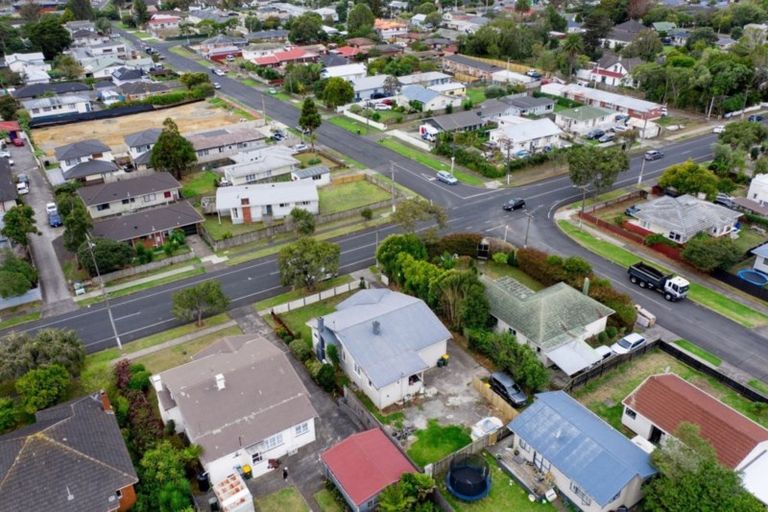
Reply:
[[[667, 368], [691, 384], [730, 405], [748, 418], [768, 427], [768, 408], [761, 407], [716, 379], [697, 372], [669, 354], [653, 350], [617, 366], [602, 377], [573, 392], [574, 397], [601, 416], [614, 428], [621, 428], [621, 401], [649, 375], [665, 373]], [[625, 433], [629, 434], [628, 431]]]

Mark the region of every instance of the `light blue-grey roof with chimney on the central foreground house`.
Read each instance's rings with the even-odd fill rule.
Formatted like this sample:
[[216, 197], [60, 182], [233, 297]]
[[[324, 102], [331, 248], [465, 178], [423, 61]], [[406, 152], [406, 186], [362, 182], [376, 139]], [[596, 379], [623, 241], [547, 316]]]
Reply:
[[379, 389], [432, 366], [418, 352], [451, 337], [424, 301], [387, 289], [357, 292], [322, 322]]

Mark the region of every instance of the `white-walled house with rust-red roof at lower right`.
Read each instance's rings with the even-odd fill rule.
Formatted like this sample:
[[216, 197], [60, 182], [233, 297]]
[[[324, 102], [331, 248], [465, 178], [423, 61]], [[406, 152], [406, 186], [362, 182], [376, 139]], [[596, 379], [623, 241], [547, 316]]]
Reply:
[[674, 373], [646, 378], [622, 405], [622, 425], [652, 443], [674, 436], [682, 423], [698, 426], [720, 463], [768, 505], [768, 429]]

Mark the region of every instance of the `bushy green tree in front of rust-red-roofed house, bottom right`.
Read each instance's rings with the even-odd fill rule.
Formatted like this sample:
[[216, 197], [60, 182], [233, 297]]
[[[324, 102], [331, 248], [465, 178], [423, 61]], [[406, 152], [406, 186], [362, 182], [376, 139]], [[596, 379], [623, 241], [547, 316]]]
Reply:
[[644, 486], [643, 509], [649, 512], [738, 510], [761, 512], [764, 505], [742, 486], [738, 473], [718, 463], [714, 448], [699, 428], [682, 423], [651, 454], [659, 475]]

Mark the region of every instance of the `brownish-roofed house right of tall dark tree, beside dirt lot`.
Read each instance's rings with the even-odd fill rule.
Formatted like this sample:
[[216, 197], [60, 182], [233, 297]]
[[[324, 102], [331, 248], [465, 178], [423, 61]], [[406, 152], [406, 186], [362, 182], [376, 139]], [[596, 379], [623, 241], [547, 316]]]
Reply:
[[267, 145], [267, 136], [257, 129], [255, 122], [231, 124], [186, 137], [195, 148], [198, 162], [215, 162]]

